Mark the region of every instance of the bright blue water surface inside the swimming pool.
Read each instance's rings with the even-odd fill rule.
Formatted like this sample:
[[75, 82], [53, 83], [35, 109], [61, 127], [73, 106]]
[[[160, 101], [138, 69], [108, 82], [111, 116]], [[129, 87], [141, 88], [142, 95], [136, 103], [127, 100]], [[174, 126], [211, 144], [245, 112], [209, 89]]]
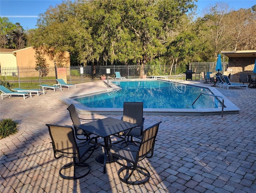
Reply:
[[173, 84], [161, 80], [154, 81], [120, 81], [122, 89], [74, 100], [92, 108], [122, 108], [124, 101], [143, 102], [144, 108], [194, 109], [218, 108], [220, 101], [216, 97], [201, 95], [211, 94], [207, 88]]

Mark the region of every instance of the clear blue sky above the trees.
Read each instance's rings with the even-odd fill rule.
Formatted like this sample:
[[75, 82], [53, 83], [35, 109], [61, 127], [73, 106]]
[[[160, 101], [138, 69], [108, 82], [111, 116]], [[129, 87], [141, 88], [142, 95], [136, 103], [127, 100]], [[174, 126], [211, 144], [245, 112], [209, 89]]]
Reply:
[[[43, 14], [49, 6], [56, 6], [62, 0], [0, 0], [0, 17], [7, 17], [12, 23], [20, 23], [24, 30], [36, 28], [39, 14]], [[240, 8], [251, 8], [256, 0], [198, 0], [198, 13], [209, 5], [217, 2], [225, 2], [229, 8], [238, 10]]]

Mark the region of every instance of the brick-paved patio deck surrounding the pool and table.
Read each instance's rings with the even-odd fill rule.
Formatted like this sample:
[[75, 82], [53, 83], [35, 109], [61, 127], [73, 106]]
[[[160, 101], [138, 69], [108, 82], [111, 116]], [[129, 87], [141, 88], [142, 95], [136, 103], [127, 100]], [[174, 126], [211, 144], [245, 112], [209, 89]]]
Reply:
[[68, 106], [60, 97], [105, 88], [102, 81], [88, 82], [25, 100], [0, 99], [1, 119], [10, 117], [20, 123], [18, 133], [0, 140], [0, 192], [256, 192], [256, 89], [251, 88], [215, 88], [240, 109], [239, 114], [144, 115], [144, 128], [162, 121], [154, 156], [142, 161], [151, 173], [144, 185], [122, 183], [116, 163], [107, 164], [103, 174], [102, 164], [95, 161], [101, 148], [87, 161], [89, 175], [74, 181], [60, 178], [59, 168], [71, 160], [54, 159], [45, 124], [72, 125]]

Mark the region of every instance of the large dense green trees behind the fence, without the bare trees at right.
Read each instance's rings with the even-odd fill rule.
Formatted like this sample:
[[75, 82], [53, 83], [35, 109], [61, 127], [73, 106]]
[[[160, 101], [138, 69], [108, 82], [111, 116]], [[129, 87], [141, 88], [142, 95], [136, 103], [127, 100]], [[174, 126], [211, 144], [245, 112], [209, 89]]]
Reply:
[[193, 7], [192, 0], [64, 1], [40, 14], [33, 43], [69, 51], [72, 62], [145, 65], [165, 54], [170, 30]]

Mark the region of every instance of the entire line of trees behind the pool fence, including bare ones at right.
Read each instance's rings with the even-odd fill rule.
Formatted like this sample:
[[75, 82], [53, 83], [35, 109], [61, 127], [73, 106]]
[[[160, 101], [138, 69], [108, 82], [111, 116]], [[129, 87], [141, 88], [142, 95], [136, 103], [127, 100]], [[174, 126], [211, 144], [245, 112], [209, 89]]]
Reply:
[[186, 66], [216, 61], [220, 50], [255, 50], [255, 6], [223, 8], [196, 18], [194, 0], [65, 0], [40, 14], [29, 44], [68, 51], [73, 65], [140, 64], [141, 72], [159, 57]]

